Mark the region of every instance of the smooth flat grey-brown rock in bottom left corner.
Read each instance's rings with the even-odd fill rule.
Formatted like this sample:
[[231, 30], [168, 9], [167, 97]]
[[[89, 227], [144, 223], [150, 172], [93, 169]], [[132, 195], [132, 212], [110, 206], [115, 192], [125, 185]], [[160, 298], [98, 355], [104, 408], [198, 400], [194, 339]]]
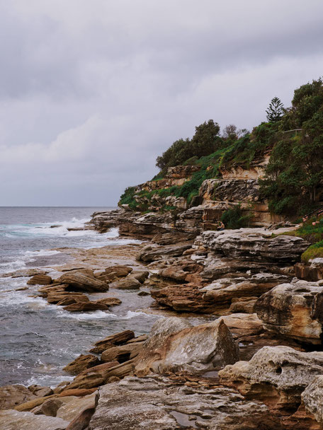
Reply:
[[0, 422], [1, 430], [65, 430], [69, 424], [61, 418], [17, 412], [12, 409], [0, 411]]

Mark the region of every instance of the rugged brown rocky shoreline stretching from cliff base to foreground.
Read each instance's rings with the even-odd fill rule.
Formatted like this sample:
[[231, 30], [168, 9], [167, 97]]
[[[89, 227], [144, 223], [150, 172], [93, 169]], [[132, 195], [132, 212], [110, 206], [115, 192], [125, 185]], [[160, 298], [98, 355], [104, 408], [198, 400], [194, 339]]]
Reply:
[[[323, 428], [323, 262], [300, 265], [309, 244], [288, 236], [295, 227], [204, 231], [191, 209], [94, 214], [89, 228], [145, 239], [123, 250], [133, 264], [116, 247], [78, 250], [81, 264], [55, 278], [29, 272], [66, 312], [109, 310], [132, 289], [162, 318], [149, 335], [134, 327], [96, 342], [53, 389], [1, 387], [1, 429]], [[193, 314], [208, 322], [192, 325]]]

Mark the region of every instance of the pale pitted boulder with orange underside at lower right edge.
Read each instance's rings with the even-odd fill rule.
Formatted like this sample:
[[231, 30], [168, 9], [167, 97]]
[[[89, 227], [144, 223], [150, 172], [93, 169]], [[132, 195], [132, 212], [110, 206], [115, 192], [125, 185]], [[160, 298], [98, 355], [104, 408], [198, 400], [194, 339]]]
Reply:
[[220, 381], [273, 409], [297, 409], [300, 395], [323, 373], [323, 352], [290, 347], [263, 347], [250, 361], [238, 361], [219, 372]]

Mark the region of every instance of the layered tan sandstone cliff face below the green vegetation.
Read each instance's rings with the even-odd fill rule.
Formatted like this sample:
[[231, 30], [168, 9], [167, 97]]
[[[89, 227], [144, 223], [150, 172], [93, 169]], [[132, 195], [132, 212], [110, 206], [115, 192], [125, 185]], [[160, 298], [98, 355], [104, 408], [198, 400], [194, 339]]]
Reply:
[[[176, 228], [183, 231], [199, 231], [216, 228], [224, 211], [239, 205], [243, 213], [250, 215], [250, 226], [268, 226], [283, 221], [268, 210], [268, 204], [261, 200], [259, 178], [269, 160], [269, 153], [256, 158], [249, 168], [242, 165], [219, 168], [216, 178], [206, 179], [200, 185], [198, 194], [191, 197], [183, 192], [188, 187], [200, 165], [177, 165], [169, 168], [165, 177], [151, 180], [135, 187], [133, 199], [138, 207], [146, 211], [176, 211]], [[211, 171], [214, 166], [206, 168]], [[189, 182], [191, 181], [191, 182]], [[189, 190], [188, 190], [189, 191]], [[123, 209], [128, 205], [120, 204]]]

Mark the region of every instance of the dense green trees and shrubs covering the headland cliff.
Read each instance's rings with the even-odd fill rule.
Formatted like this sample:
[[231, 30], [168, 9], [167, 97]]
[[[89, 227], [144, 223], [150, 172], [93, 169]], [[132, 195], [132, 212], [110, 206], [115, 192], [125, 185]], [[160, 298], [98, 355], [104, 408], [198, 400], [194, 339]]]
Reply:
[[[251, 163], [270, 154], [265, 176], [261, 180], [261, 197], [268, 200], [276, 214], [297, 216], [308, 213], [317, 205], [323, 178], [323, 83], [321, 79], [297, 88], [290, 108], [283, 108], [273, 98], [266, 110], [268, 122], [254, 127], [252, 132], [238, 130], [229, 124], [220, 136], [217, 122], [208, 120], [196, 127], [192, 139], [179, 139], [157, 157], [161, 169], [153, 180], [164, 178], [167, 169], [175, 165], [200, 165], [200, 170], [181, 187], [140, 192], [151, 200], [154, 194], [185, 197], [188, 204], [203, 180], [217, 178], [221, 168]], [[121, 196], [120, 203], [132, 209], [147, 210], [134, 200], [135, 188]]]

